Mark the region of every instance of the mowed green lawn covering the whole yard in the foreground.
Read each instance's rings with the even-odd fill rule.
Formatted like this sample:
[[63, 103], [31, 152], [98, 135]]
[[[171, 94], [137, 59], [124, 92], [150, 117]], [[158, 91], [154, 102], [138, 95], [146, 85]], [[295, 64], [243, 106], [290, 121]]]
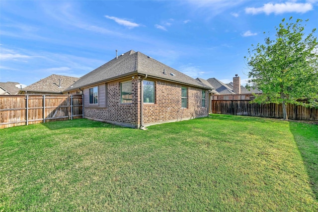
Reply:
[[0, 211], [318, 211], [318, 125], [217, 115], [0, 129]]

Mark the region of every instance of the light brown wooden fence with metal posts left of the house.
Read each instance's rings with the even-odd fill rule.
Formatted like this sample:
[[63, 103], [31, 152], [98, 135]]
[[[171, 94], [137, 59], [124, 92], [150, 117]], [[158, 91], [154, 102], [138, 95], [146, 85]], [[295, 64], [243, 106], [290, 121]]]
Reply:
[[83, 117], [83, 95], [0, 96], [0, 128]]

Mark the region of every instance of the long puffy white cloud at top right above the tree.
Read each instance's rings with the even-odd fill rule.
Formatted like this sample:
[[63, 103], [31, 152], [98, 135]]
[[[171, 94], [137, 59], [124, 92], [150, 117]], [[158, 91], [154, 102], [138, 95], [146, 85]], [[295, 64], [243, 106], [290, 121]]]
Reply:
[[270, 13], [282, 14], [285, 12], [305, 13], [312, 9], [313, 5], [311, 3], [285, 2], [275, 4], [265, 3], [262, 7], [247, 7], [245, 8], [245, 12], [253, 15], [264, 12], [268, 15]]

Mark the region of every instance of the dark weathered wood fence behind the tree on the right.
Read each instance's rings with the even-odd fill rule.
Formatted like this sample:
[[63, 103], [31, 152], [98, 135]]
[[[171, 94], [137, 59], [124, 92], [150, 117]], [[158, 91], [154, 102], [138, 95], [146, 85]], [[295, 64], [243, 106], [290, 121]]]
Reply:
[[[283, 118], [281, 104], [250, 103], [253, 95], [216, 95], [212, 97], [212, 113]], [[288, 104], [287, 115], [292, 120], [318, 120], [318, 109]]]

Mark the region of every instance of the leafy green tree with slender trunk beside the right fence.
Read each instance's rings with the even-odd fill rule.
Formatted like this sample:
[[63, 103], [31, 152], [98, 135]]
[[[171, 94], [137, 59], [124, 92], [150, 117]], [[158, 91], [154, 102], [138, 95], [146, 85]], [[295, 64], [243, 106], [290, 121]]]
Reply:
[[[265, 44], [252, 45], [248, 57], [248, 86], [263, 92], [255, 103], [280, 103], [284, 119], [286, 104], [318, 106], [318, 42], [316, 28], [305, 36], [303, 20], [285, 23], [276, 28], [276, 39], [265, 37]], [[306, 20], [308, 21], [308, 20]], [[265, 34], [265, 32], [264, 32]], [[306, 103], [301, 100], [307, 100]]]

